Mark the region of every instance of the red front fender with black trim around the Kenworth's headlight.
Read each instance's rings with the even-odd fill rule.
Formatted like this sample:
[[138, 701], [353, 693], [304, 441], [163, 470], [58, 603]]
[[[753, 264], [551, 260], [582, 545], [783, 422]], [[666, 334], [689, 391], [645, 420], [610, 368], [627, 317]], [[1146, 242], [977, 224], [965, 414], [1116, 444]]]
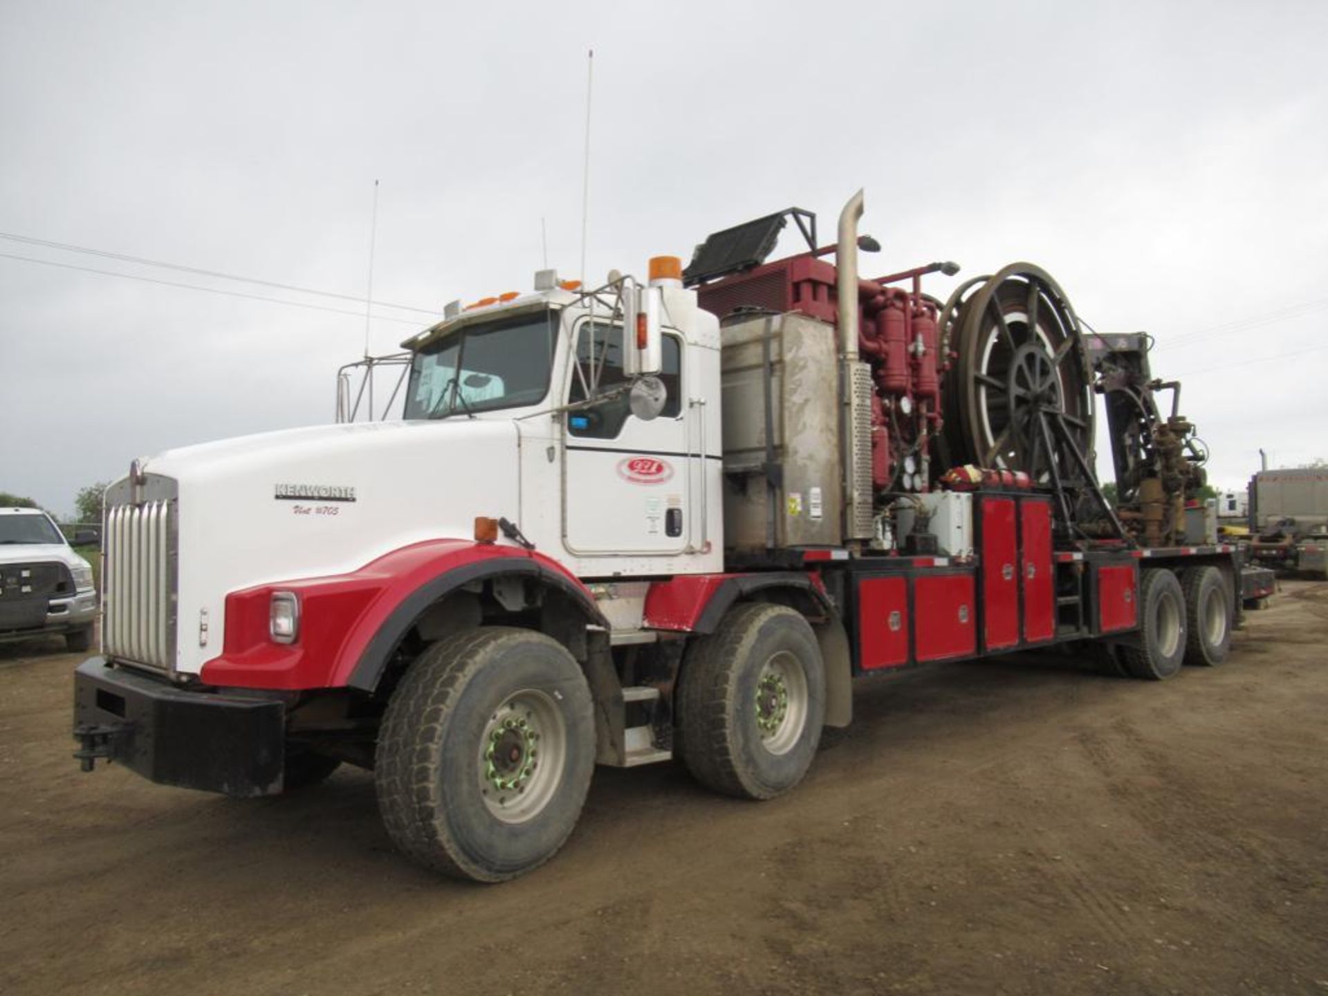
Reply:
[[[603, 616], [586, 587], [556, 560], [519, 547], [433, 539], [380, 556], [351, 574], [272, 582], [226, 596], [220, 656], [202, 680], [223, 688], [373, 691], [401, 637], [428, 606], [469, 582], [527, 574], [572, 598], [587, 622]], [[296, 643], [268, 633], [272, 592], [300, 599]]]

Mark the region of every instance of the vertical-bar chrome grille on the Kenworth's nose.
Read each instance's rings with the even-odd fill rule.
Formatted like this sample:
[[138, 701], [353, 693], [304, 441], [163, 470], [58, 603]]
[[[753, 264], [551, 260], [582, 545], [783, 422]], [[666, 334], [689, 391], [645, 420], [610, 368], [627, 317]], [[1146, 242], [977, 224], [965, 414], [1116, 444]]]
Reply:
[[175, 535], [173, 498], [106, 509], [101, 645], [108, 656], [171, 669]]

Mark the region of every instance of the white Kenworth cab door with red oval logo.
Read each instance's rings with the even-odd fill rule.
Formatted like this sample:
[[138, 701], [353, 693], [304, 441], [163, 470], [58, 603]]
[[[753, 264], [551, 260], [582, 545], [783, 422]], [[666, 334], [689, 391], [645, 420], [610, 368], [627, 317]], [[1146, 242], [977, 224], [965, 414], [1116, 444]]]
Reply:
[[[568, 402], [584, 401], [587, 388], [595, 396], [627, 382], [620, 325], [592, 328], [582, 320], [575, 336], [580, 372], [571, 372]], [[570, 554], [659, 556], [689, 546], [703, 461], [689, 450], [695, 434], [681, 393], [683, 339], [669, 331], [661, 339], [668, 400], [656, 418], [633, 416], [622, 393], [563, 420], [563, 546]]]

